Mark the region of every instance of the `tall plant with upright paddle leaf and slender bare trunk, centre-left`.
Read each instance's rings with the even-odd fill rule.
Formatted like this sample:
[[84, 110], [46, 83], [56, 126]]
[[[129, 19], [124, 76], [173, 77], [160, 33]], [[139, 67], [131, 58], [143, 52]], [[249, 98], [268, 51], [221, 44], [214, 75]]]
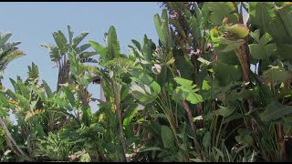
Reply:
[[105, 91], [106, 100], [111, 103], [107, 107], [107, 110], [110, 111], [106, 112], [110, 112], [114, 116], [118, 114], [120, 145], [122, 148], [121, 158], [123, 161], [129, 161], [126, 158], [127, 145], [123, 129], [123, 110], [125, 108], [122, 107], [122, 101], [126, 98], [124, 93], [129, 91], [129, 87], [124, 82], [124, 79], [127, 78], [125, 74], [130, 67], [131, 61], [127, 56], [120, 53], [120, 43], [113, 26], [110, 26], [109, 33], [105, 37], [106, 46], [101, 46], [94, 41], [89, 41], [89, 44], [100, 55], [99, 65], [104, 68], [98, 70], [97, 74], [101, 77], [101, 87]]

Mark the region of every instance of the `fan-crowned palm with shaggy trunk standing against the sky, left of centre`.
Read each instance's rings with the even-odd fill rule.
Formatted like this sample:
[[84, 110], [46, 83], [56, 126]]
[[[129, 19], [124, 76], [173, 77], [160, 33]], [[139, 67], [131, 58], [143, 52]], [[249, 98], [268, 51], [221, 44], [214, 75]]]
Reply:
[[[78, 86], [78, 97], [82, 100], [82, 106], [88, 107], [89, 106], [89, 97], [91, 96], [89, 94], [88, 88], [84, 86], [79, 86], [77, 84], [76, 77], [74, 77], [72, 74], [70, 74], [70, 61], [69, 61], [69, 53], [73, 49], [74, 52], [76, 52], [78, 56], [78, 62], [80, 63], [98, 63], [97, 60], [92, 58], [91, 56], [97, 55], [97, 53], [86, 51], [90, 45], [84, 44], [81, 46], [78, 46], [86, 36], [89, 35], [88, 32], [82, 32], [78, 36], [73, 38], [73, 30], [70, 26], [68, 26], [68, 39], [66, 36], [62, 33], [62, 31], [58, 30], [57, 32], [53, 32], [53, 37], [56, 42], [56, 45], [48, 45], [48, 44], [42, 44], [41, 46], [44, 46], [49, 51], [49, 56], [51, 58], [51, 61], [58, 67], [58, 77], [57, 77], [57, 91], [61, 88], [62, 84], [68, 83], [69, 85]], [[54, 120], [54, 119], [52, 119]], [[62, 127], [65, 125], [65, 123], [68, 121], [68, 118], [64, 116], [61, 118], [61, 122], [59, 124], [59, 127]]]

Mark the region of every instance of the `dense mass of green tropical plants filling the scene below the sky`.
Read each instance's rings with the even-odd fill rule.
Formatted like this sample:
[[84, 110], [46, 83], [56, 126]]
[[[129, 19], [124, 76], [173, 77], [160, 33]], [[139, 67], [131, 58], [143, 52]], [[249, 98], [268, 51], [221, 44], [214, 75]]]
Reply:
[[[54, 32], [42, 46], [56, 91], [34, 63], [14, 90], [1, 84], [0, 161], [291, 161], [292, 3], [161, 5], [159, 44], [145, 35], [129, 54], [114, 26], [105, 44]], [[0, 36], [0, 76], [25, 55], [11, 35]]]

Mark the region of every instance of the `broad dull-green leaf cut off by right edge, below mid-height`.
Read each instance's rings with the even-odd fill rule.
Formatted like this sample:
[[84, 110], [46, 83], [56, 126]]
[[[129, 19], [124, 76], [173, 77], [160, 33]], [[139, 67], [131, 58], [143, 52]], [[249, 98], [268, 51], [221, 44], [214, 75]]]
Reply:
[[269, 122], [283, 118], [291, 113], [291, 106], [284, 106], [276, 101], [273, 101], [266, 107], [265, 111], [260, 115], [260, 118], [265, 122]]

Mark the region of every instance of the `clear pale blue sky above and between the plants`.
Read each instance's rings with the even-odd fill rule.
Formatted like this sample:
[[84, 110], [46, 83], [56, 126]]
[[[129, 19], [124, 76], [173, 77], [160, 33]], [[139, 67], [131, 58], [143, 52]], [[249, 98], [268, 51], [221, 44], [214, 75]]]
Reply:
[[[71, 26], [74, 36], [88, 31], [86, 42], [94, 40], [104, 44], [103, 36], [110, 26], [115, 26], [120, 40], [120, 48], [128, 54], [131, 39], [142, 41], [146, 34], [155, 43], [156, 35], [153, 15], [161, 14], [156, 2], [1, 2], [0, 32], [12, 32], [8, 41], [21, 41], [18, 46], [26, 56], [16, 59], [5, 69], [4, 86], [13, 89], [9, 77], [26, 79], [27, 66], [34, 62], [40, 77], [54, 90], [57, 85], [57, 68], [48, 56], [43, 43], [55, 44], [52, 32], [61, 30], [68, 36], [67, 26]], [[94, 97], [99, 97], [99, 87], [90, 86]]]

